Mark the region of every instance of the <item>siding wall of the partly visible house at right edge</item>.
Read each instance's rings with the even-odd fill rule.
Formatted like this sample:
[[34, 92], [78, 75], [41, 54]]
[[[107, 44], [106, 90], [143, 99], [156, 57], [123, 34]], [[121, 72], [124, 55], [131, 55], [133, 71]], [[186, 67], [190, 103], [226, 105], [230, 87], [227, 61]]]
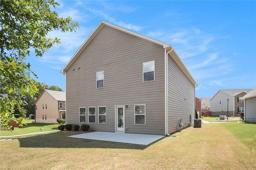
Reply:
[[256, 97], [245, 99], [245, 121], [256, 122]]

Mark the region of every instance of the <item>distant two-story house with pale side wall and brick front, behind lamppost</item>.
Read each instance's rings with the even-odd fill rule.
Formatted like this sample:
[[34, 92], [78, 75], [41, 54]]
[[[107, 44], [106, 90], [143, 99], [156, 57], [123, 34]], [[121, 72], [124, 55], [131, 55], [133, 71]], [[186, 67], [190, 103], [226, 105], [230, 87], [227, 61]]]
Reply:
[[220, 89], [211, 98], [211, 115], [227, 115], [227, 99], [228, 115], [239, 116], [244, 113], [244, 100], [242, 97], [252, 89]]

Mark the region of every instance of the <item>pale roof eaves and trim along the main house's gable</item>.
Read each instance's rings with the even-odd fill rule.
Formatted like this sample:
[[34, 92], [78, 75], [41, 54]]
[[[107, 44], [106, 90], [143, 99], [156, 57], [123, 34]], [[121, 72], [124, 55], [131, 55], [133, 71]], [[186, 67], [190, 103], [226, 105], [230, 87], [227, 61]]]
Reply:
[[171, 57], [173, 58], [173, 60], [179, 65], [179, 67], [185, 73], [185, 75], [188, 77], [188, 79], [194, 84], [195, 87], [197, 86], [196, 81], [194, 80], [194, 78], [192, 77], [190, 72], [188, 71], [185, 64], [181, 61], [180, 56], [177, 54], [177, 52], [175, 52], [174, 48], [171, 45], [163, 43], [162, 41], [158, 41], [158, 40], [153, 39], [153, 38], [149, 38], [149, 37], [140, 35], [139, 33], [135, 33], [135, 32], [129, 31], [127, 29], [118, 27], [117, 25], [113, 25], [113, 24], [103, 22], [103, 21], [100, 22], [100, 24], [94, 29], [94, 31], [91, 33], [91, 35], [84, 41], [82, 46], [77, 50], [77, 52], [73, 55], [73, 57], [71, 57], [71, 59], [68, 61], [68, 63], [65, 65], [65, 67], [63, 67], [63, 69], [61, 70], [61, 73], [63, 73], [63, 74], [66, 73], [66, 71], [68, 70], [70, 65], [73, 64], [73, 62], [76, 60], [76, 58], [83, 52], [85, 47], [91, 42], [91, 40], [97, 35], [97, 33], [101, 30], [101, 28], [104, 25], [107, 25], [108, 27], [117, 29], [117, 30], [122, 31], [122, 32], [129, 33], [130, 35], [133, 35], [133, 36], [148, 40], [152, 43], [163, 46], [163, 48], [166, 49], [167, 53], [169, 53], [171, 55]]

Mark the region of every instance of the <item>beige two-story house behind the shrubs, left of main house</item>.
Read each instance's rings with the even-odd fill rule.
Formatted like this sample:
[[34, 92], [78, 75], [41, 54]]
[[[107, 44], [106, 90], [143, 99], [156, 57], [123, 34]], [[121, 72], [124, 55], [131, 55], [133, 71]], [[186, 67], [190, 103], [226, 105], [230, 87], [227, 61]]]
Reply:
[[57, 123], [66, 115], [66, 92], [44, 90], [36, 102], [36, 123]]

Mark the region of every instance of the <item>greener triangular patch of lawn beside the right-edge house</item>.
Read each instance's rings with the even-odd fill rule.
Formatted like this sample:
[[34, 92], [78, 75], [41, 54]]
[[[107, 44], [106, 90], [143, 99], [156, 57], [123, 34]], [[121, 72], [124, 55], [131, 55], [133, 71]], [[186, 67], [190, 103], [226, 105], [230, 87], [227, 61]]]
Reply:
[[222, 123], [229, 132], [235, 135], [247, 147], [256, 147], [256, 123]]

